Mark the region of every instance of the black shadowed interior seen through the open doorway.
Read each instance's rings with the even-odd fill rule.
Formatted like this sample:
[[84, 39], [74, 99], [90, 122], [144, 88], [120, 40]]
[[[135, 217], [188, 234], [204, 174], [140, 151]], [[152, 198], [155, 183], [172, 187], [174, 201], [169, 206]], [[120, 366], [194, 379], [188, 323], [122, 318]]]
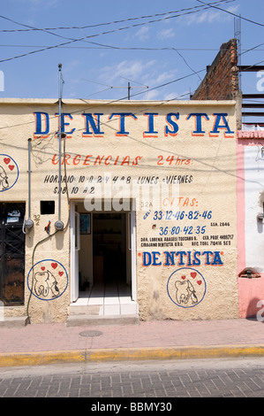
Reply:
[[126, 281], [125, 213], [93, 214], [94, 284]]

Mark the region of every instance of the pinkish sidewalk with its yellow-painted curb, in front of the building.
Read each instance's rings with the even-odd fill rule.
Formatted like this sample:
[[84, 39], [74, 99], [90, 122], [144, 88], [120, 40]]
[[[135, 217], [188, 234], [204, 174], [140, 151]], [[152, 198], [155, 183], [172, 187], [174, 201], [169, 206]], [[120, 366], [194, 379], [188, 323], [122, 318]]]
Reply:
[[258, 320], [155, 320], [134, 325], [0, 328], [0, 366], [131, 359], [264, 356]]

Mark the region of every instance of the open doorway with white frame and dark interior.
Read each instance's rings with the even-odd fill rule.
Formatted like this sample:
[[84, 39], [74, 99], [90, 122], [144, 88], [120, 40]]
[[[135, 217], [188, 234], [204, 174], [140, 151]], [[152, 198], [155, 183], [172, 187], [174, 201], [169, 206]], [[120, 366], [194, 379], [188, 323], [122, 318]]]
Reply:
[[135, 212], [87, 212], [83, 202], [72, 202], [72, 303], [111, 298], [119, 310], [126, 301], [135, 303], [135, 242]]

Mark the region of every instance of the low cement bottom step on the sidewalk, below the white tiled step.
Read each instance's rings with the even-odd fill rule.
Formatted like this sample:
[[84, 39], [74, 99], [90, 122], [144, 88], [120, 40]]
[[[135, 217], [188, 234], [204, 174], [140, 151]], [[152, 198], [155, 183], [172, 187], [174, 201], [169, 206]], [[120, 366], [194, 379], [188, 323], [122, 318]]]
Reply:
[[69, 315], [66, 327], [98, 327], [103, 325], [137, 325], [138, 314], [133, 315]]

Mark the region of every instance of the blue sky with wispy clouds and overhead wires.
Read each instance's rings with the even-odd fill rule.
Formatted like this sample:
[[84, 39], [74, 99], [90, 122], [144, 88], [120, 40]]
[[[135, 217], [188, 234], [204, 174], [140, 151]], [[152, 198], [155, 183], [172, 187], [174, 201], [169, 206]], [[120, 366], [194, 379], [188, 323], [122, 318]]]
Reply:
[[[233, 37], [241, 65], [264, 65], [263, 0], [0, 2], [0, 98], [57, 98], [62, 64], [63, 98], [127, 99], [130, 83], [131, 99], [189, 99]], [[243, 74], [243, 92], [263, 80]]]

